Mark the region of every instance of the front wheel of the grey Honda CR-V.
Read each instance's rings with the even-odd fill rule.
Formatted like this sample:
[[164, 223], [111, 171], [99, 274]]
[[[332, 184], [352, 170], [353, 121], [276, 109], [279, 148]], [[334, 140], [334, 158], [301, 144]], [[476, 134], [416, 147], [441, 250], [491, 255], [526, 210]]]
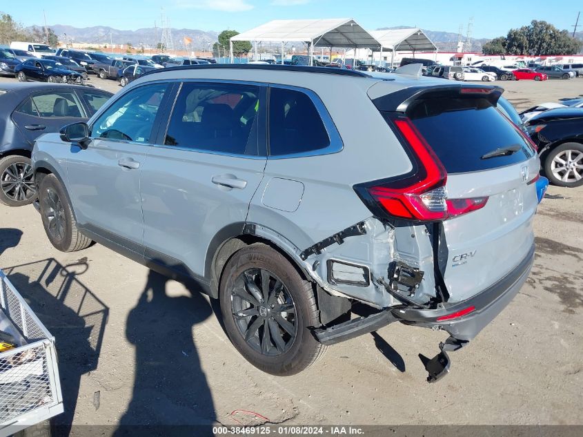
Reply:
[[65, 190], [55, 175], [46, 175], [39, 187], [41, 218], [46, 235], [55, 249], [75, 252], [91, 240], [79, 232]]

